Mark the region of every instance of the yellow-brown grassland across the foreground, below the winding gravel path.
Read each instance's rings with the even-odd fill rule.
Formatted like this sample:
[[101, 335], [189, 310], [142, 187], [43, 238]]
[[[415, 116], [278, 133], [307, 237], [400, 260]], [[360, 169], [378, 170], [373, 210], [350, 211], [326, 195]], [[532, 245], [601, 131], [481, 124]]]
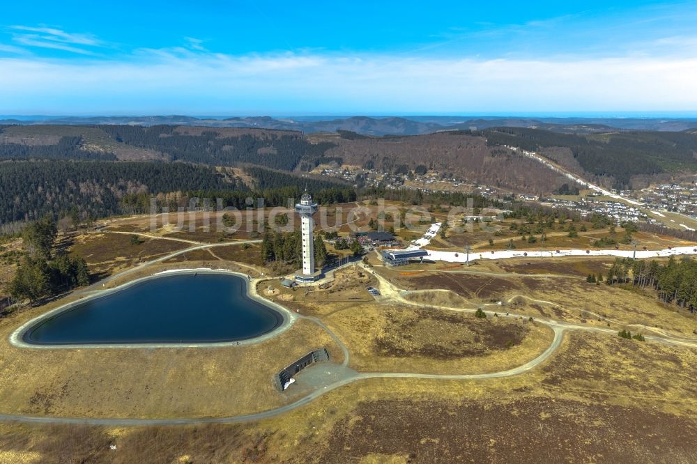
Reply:
[[167, 463], [687, 463], [697, 459], [696, 392], [686, 372], [696, 363], [695, 350], [573, 332], [558, 355], [523, 376], [365, 380], [246, 424], [0, 425], [0, 456], [20, 463], [131, 463], [144, 453]]

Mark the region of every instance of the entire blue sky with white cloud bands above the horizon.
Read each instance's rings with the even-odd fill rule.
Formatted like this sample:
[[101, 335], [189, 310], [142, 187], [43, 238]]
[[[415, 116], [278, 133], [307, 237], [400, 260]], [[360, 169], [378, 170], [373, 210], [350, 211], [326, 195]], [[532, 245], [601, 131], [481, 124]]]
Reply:
[[697, 1], [3, 5], [0, 114], [697, 114]]

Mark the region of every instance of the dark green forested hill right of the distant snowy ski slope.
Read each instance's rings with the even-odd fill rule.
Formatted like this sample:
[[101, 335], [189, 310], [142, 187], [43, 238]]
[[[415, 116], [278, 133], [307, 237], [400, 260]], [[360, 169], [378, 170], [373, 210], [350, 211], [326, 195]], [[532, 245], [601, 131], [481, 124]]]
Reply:
[[[611, 178], [613, 187], [631, 187], [636, 176], [697, 170], [697, 134], [694, 132], [608, 132], [560, 134], [547, 130], [498, 127], [476, 132], [491, 147], [507, 145], [538, 151], [567, 148], [574, 160], [555, 161], [572, 169], [573, 161], [592, 176]], [[476, 134], [475, 133], [475, 134]]]

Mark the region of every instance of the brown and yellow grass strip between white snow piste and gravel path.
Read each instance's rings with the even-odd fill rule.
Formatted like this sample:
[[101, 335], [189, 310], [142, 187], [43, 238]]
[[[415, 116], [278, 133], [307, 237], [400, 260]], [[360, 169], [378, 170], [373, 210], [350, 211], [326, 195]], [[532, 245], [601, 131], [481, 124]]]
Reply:
[[[571, 262], [567, 261], [565, 266]], [[588, 263], [583, 263], [582, 267], [585, 265]], [[424, 304], [433, 300], [445, 305], [450, 300], [456, 303], [456, 307], [459, 304], [476, 307], [477, 304], [501, 301], [504, 304], [502, 311], [598, 326], [607, 326], [611, 322], [611, 327], [618, 327], [618, 330], [622, 328], [621, 324], [640, 324], [683, 337], [694, 337], [697, 330], [697, 318], [693, 314], [660, 302], [644, 289], [588, 284], [583, 279], [572, 277], [489, 277], [446, 271], [404, 275], [394, 270], [375, 269], [399, 288], [416, 291], [408, 295], [409, 299]], [[419, 294], [431, 289], [445, 289], [454, 296], [442, 295], [440, 291]]]

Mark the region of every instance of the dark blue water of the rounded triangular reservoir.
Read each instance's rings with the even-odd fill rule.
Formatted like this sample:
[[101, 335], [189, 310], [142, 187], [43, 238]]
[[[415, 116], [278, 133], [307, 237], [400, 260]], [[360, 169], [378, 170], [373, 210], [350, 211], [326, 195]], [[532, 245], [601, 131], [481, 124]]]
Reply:
[[243, 277], [178, 274], [149, 279], [30, 327], [24, 341], [213, 343], [270, 332], [281, 314], [247, 296]]

